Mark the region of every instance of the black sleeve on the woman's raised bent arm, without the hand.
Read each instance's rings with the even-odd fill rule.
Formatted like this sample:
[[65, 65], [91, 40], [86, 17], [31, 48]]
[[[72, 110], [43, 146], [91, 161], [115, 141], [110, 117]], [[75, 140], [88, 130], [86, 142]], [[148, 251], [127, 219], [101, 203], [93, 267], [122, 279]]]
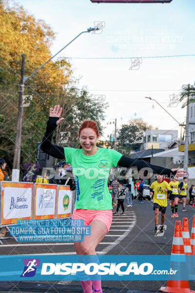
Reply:
[[65, 159], [63, 147], [52, 144], [52, 135], [53, 132], [56, 130], [56, 122], [58, 120], [58, 117], [49, 117], [49, 120], [47, 121], [46, 131], [40, 145], [40, 149], [42, 149], [42, 151], [54, 158], [63, 160]]

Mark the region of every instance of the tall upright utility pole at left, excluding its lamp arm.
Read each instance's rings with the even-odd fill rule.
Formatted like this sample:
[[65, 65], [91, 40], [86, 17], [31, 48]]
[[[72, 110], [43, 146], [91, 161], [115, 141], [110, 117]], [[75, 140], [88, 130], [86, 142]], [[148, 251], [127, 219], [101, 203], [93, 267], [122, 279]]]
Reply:
[[19, 181], [20, 174], [20, 150], [21, 150], [21, 128], [23, 116], [23, 94], [24, 94], [24, 68], [25, 68], [25, 55], [21, 55], [21, 77], [20, 77], [20, 90], [19, 90], [19, 104], [18, 104], [18, 118], [16, 128], [16, 141], [14, 146], [14, 162], [12, 170], [12, 181]]

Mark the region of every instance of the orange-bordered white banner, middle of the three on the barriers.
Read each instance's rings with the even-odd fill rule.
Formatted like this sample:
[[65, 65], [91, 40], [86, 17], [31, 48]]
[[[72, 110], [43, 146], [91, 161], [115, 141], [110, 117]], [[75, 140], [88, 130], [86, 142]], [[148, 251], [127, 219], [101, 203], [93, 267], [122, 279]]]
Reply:
[[55, 217], [57, 185], [35, 184], [34, 219], [53, 219]]

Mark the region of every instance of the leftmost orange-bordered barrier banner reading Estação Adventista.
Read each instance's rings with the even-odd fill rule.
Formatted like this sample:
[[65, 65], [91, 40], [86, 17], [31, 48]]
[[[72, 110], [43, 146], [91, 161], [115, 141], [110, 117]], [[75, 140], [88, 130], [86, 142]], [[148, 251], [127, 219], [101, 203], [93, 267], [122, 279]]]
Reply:
[[1, 182], [1, 225], [32, 219], [33, 183]]

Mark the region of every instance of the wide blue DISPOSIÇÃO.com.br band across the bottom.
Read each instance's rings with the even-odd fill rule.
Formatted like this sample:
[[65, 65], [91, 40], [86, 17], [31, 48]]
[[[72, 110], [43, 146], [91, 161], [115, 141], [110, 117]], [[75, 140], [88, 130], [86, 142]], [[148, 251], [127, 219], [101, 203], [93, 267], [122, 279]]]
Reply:
[[193, 280], [195, 255], [1, 255], [0, 280]]

